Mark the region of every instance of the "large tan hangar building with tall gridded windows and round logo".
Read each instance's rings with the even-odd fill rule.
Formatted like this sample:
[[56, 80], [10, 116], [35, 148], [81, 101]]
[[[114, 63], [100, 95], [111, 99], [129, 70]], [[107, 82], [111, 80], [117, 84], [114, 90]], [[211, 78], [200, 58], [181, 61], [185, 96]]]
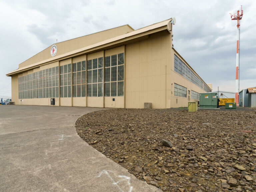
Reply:
[[[51, 45], [11, 71], [16, 105], [185, 107], [211, 92], [173, 48], [173, 20], [129, 25]], [[51, 102], [54, 100], [55, 102]]]

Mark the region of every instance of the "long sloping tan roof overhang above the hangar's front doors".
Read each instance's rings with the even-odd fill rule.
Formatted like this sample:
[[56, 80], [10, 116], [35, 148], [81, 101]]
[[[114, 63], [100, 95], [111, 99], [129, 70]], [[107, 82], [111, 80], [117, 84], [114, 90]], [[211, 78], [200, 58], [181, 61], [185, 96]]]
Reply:
[[153, 24], [153, 25], [150, 25], [150, 26], [147, 26], [147, 27], [144, 27], [144, 28], [141, 28], [141, 29], [137, 29], [135, 31], [132, 31], [132, 32], [129, 32], [129, 33], [126, 33], [126, 34], [123, 34], [123, 35], [120, 35], [120, 36], [117, 36], [117, 37], [114, 37], [111, 39], [107, 39], [105, 41], [101, 41], [99, 43], [95, 43], [93, 45], [83, 47], [81, 49], [77, 49], [75, 51], [64, 53], [62, 55], [40, 61], [40, 62], [34, 63], [32, 65], [22, 67], [20, 69], [16, 69], [14, 71], [7, 73], [6, 76], [17, 75], [17, 74], [23, 73], [25, 71], [31, 70], [33, 68], [47, 65], [49, 63], [53, 63], [56, 61], [61, 61], [64, 59], [68, 59], [68, 58], [72, 58], [72, 57], [76, 57], [76, 56], [80, 56], [80, 55], [84, 55], [84, 54], [90, 54], [90, 53], [98, 52], [101, 50], [111, 49], [111, 48], [129, 44], [129, 43], [148, 39], [150, 34], [157, 33], [160, 31], [167, 30], [169, 33], [171, 33], [171, 27], [172, 27], [171, 20], [172, 20], [172, 18], [162, 21], [162, 22], [159, 22], [159, 23], [156, 23], [156, 24]]

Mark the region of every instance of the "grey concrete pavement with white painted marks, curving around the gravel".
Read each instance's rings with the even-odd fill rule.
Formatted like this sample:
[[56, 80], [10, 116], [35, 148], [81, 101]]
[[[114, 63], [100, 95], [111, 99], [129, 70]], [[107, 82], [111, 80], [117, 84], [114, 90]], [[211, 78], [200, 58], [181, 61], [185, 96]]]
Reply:
[[0, 191], [160, 191], [77, 135], [76, 120], [96, 110], [0, 105]]

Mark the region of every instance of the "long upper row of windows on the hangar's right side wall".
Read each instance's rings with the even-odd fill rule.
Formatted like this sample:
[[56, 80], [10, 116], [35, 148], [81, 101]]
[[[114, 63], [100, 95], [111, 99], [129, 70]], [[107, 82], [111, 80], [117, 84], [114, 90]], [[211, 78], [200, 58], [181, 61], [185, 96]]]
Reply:
[[175, 54], [174, 71], [182, 75], [201, 89], [205, 90], [206, 92], [211, 92], [211, 89]]

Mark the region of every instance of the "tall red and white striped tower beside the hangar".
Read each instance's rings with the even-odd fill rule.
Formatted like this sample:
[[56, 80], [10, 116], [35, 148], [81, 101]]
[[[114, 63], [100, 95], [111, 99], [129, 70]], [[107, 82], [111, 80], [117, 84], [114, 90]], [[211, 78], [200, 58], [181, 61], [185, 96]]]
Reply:
[[236, 102], [236, 106], [238, 106], [238, 102], [239, 102], [239, 76], [238, 76], [238, 71], [239, 71], [239, 51], [240, 51], [240, 20], [242, 19], [243, 16], [243, 10], [242, 10], [242, 6], [241, 6], [241, 11], [237, 11], [237, 13], [234, 13], [233, 15], [230, 13], [231, 15], [231, 20], [237, 20], [237, 42], [236, 42], [236, 98], [235, 98], [235, 102]]

